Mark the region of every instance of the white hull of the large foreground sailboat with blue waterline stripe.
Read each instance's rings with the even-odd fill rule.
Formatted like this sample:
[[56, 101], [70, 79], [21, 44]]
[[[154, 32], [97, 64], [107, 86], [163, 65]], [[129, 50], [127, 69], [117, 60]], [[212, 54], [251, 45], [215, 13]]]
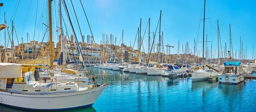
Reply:
[[19, 94], [0, 91], [0, 104], [31, 110], [64, 110], [92, 106], [106, 86], [58, 94]]

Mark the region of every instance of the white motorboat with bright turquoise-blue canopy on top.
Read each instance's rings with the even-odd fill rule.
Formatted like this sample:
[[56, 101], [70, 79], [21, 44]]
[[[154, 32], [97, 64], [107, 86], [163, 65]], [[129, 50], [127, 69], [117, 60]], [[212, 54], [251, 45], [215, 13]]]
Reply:
[[218, 75], [218, 81], [221, 84], [239, 84], [244, 81], [245, 75], [241, 62], [224, 62], [224, 70]]

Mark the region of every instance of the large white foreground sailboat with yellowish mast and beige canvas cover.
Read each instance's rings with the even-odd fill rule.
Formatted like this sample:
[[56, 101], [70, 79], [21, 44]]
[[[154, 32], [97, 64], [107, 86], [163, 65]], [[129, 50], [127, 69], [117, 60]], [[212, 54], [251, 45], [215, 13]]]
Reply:
[[[35, 67], [40, 66], [0, 63], [0, 80], [3, 82], [0, 86], [0, 104], [30, 110], [64, 110], [92, 106], [107, 84], [96, 84], [94, 81], [92, 86], [79, 87], [75, 82], [62, 84], [55, 81], [51, 0], [48, 0], [48, 5], [51, 81], [41, 83], [35, 80], [38, 75]], [[67, 8], [65, 0], [64, 6]], [[68, 18], [70, 20], [69, 14]], [[72, 22], [70, 25], [72, 26]]]

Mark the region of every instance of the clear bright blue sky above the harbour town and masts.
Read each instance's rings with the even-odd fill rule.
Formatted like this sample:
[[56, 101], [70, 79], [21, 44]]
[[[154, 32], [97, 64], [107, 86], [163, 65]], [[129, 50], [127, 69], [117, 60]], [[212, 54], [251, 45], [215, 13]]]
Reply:
[[[47, 0], [0, 0], [0, 2], [4, 3], [4, 6], [0, 8], [0, 22], [4, 22], [3, 13], [6, 12], [7, 25], [11, 26], [10, 21], [14, 20], [19, 42], [21, 41], [21, 37], [24, 38], [24, 42], [27, 41], [26, 33], [29, 33], [30, 40], [34, 38], [37, 41], [42, 41], [44, 32], [46, 31], [46, 26], [42, 22], [48, 24]], [[66, 0], [66, 2], [70, 6], [69, 11], [71, 9], [73, 13], [70, 0]], [[177, 45], [178, 41], [180, 41], [180, 53], [182, 53], [182, 44], [185, 47], [186, 42], [188, 42], [189, 48], [193, 50], [194, 39], [198, 39], [198, 50], [200, 50], [200, 56], [202, 56], [203, 21], [200, 24], [199, 35], [198, 28], [201, 16], [203, 17], [204, 0], [82, 0], [82, 3], [96, 43], [100, 43], [102, 33], [105, 33], [109, 34], [109, 36], [113, 34], [114, 37], [117, 37], [116, 43], [118, 44], [122, 30], [124, 30], [125, 44], [130, 46], [131, 42], [133, 45], [137, 28], [140, 25], [140, 18], [142, 18], [142, 35], [144, 34], [148, 17], [151, 18], [151, 32], [155, 32], [160, 10], [162, 10], [161, 31], [163, 31], [164, 45], [169, 44], [174, 46], [171, 50], [171, 53], [174, 54], [177, 53]], [[224, 48], [225, 42], [227, 42], [227, 49], [230, 48], [229, 24], [231, 23], [233, 52], [235, 53], [237, 50], [238, 53], [239, 39], [241, 36], [242, 41], [244, 41], [244, 49], [247, 45], [247, 59], [252, 59], [252, 45], [255, 42], [256, 36], [256, 9], [253, 6], [255, 3], [256, 1], [254, 0], [207, 0], [205, 17], [210, 19], [207, 19], [205, 22], [205, 34], [208, 37], [207, 41], [212, 41], [208, 42], [207, 45], [210, 49], [210, 45], [212, 44], [212, 52], [215, 54], [215, 58], [217, 57], [217, 20], [219, 20], [222, 48]], [[17, 4], [19, 4], [18, 7]], [[73, 0], [73, 4], [78, 15], [82, 34], [85, 36], [91, 35], [79, 0]], [[62, 7], [62, 12], [64, 21], [67, 23], [69, 29], [68, 34], [70, 35], [72, 32], [64, 7]], [[71, 20], [74, 24], [77, 38], [81, 41], [81, 36], [73, 18], [76, 19], [74, 13], [73, 17], [71, 15]], [[59, 32], [56, 32], [56, 26], [59, 26], [58, 0], [53, 0], [52, 3], [52, 19], [53, 40], [57, 42], [59, 34]], [[148, 30], [146, 30], [143, 42], [145, 50], [148, 49], [147, 33]], [[0, 34], [0, 44], [3, 45], [3, 31]], [[158, 35], [156, 35], [157, 42]], [[153, 37], [152, 34], [151, 37]], [[47, 34], [44, 42], [48, 39], [49, 36]], [[14, 36], [14, 41], [17, 45], [16, 35]], [[134, 46], [137, 48], [137, 44]]]

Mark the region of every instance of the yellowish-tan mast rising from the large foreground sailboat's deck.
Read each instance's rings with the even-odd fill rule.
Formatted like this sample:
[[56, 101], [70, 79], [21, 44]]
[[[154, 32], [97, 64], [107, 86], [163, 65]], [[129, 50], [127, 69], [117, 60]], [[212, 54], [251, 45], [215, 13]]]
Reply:
[[54, 80], [54, 71], [53, 71], [53, 54], [52, 54], [52, 3], [51, 0], [48, 0], [49, 7], [49, 45], [50, 45], [50, 74], [51, 81]]

